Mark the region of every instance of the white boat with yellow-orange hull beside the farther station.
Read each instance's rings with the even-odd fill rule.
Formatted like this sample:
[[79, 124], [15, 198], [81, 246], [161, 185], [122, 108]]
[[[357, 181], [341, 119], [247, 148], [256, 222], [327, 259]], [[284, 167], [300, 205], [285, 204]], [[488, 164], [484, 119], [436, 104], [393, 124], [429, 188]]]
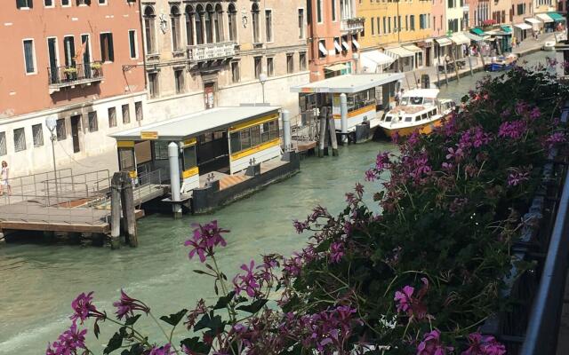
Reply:
[[451, 99], [437, 99], [438, 89], [415, 89], [405, 92], [398, 106], [385, 114], [380, 127], [388, 137], [396, 133], [405, 137], [419, 130], [429, 134], [453, 111]]

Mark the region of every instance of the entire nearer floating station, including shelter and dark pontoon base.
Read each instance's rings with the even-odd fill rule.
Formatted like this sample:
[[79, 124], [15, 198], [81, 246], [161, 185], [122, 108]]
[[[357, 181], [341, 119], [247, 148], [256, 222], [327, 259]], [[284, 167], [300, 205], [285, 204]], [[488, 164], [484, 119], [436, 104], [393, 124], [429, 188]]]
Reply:
[[279, 106], [215, 107], [110, 137], [134, 184], [149, 172], [169, 177], [172, 195], [161, 203], [176, 216], [182, 206], [205, 213], [300, 170], [288, 116]]

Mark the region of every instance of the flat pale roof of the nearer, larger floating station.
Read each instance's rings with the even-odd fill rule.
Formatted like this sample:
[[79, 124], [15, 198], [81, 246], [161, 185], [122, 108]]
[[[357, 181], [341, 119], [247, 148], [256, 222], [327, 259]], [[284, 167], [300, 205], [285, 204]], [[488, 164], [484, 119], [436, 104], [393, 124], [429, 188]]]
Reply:
[[142, 132], [156, 132], [159, 140], [180, 141], [212, 130], [223, 130], [240, 122], [278, 112], [280, 106], [229, 106], [184, 114], [109, 135], [116, 140], [140, 140]]

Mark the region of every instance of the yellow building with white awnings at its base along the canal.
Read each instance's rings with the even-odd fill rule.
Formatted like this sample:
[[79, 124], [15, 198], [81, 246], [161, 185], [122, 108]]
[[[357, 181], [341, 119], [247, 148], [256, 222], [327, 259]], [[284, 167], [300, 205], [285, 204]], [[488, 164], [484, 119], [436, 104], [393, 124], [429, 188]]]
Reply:
[[359, 41], [362, 71], [409, 71], [432, 65], [430, 0], [360, 0], [356, 4], [357, 15], [365, 18]]

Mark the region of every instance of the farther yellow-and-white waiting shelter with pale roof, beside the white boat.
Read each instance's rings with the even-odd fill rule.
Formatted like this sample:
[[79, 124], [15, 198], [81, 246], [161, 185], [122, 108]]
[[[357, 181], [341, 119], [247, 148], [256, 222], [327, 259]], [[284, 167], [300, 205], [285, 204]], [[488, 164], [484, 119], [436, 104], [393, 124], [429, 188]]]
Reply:
[[[358, 125], [369, 125], [369, 135], [377, 127], [383, 110], [395, 99], [397, 82], [405, 78], [403, 73], [341, 75], [315, 83], [293, 86], [291, 92], [299, 93], [301, 114], [332, 106], [335, 128], [342, 134], [357, 130]], [[342, 94], [346, 103], [342, 104]], [[343, 109], [342, 116], [342, 106]], [[371, 137], [358, 137], [357, 141]]]

